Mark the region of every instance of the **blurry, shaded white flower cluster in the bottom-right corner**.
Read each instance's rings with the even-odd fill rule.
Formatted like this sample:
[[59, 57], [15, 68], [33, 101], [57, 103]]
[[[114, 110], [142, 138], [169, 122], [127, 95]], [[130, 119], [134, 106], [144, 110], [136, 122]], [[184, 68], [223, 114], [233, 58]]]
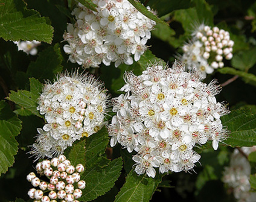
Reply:
[[[256, 151], [256, 147], [242, 147], [240, 148], [243, 153], [249, 155], [253, 151]], [[250, 192], [250, 174], [251, 166], [245, 156], [243, 156], [237, 149], [231, 156], [229, 167], [225, 168], [223, 173], [223, 182], [226, 183], [229, 188], [232, 188], [234, 197], [239, 202], [252, 202], [256, 201], [256, 193]]]

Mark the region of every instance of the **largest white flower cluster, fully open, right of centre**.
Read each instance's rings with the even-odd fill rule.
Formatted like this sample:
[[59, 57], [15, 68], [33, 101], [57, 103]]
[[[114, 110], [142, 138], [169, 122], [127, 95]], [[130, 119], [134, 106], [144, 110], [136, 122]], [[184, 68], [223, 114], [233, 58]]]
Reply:
[[220, 116], [228, 113], [217, 103], [221, 88], [216, 81], [200, 82], [197, 72], [184, 72], [184, 64], [173, 68], [149, 66], [142, 75], [125, 74], [126, 95], [112, 99], [117, 115], [109, 125], [113, 147], [119, 142], [129, 152], [135, 150], [137, 174], [155, 177], [159, 172], [188, 171], [200, 159], [193, 147], [213, 140], [217, 150], [226, 137]]

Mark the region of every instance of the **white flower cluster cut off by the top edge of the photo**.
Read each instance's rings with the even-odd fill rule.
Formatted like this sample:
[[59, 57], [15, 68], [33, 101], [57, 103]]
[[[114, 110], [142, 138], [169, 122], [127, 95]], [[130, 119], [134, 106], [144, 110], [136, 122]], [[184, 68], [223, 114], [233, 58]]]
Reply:
[[[97, 12], [78, 3], [72, 11], [77, 22], [68, 24], [64, 51], [72, 63], [84, 68], [121, 63], [132, 65], [146, 51], [155, 22], [141, 14], [127, 0], [95, 0]], [[149, 8], [148, 8], [149, 9]]]

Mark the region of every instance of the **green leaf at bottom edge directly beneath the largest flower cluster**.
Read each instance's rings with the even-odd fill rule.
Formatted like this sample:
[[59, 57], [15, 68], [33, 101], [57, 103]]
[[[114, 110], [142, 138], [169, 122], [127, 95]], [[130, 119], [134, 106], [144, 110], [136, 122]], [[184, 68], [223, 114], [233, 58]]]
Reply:
[[149, 201], [162, 181], [162, 176], [156, 174], [155, 178], [138, 175], [134, 170], [126, 177], [126, 183], [115, 197], [115, 202]]

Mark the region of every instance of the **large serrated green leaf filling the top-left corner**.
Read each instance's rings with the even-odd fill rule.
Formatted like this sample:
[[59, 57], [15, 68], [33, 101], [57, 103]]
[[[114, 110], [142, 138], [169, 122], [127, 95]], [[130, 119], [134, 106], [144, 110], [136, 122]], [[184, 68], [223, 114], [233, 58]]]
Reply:
[[0, 0], [0, 37], [4, 40], [37, 40], [51, 43], [53, 27], [35, 10], [18, 0]]

